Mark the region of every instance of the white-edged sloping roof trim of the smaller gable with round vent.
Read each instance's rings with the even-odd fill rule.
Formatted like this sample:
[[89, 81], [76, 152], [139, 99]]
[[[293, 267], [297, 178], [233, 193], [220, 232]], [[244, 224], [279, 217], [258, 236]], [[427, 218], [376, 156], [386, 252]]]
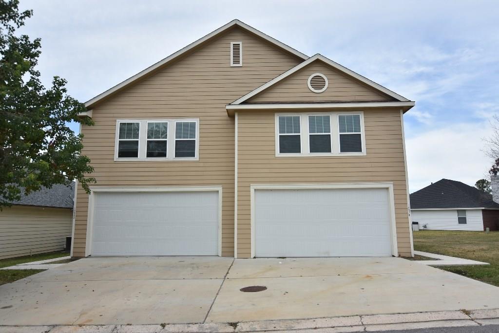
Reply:
[[397, 101], [400, 101], [400, 102], [410, 102], [407, 98], [391, 91], [390, 89], [388, 88], [385, 88], [383, 87], [382, 85], [380, 84], [377, 84], [376, 82], [374, 81], [371, 81], [369, 80], [368, 78], [360, 75], [360, 74], [357, 74], [355, 73], [354, 71], [332, 61], [331, 59], [328, 59], [326, 58], [325, 56], [321, 55], [321, 54], [315, 54], [314, 56], [308, 58], [307, 60], [303, 61], [302, 63], [296, 65], [295, 67], [289, 69], [288, 71], [282, 73], [281, 75], [277, 76], [276, 78], [268, 81], [267, 83], [261, 85], [260, 87], [256, 88], [255, 90], [249, 92], [248, 94], [244, 95], [243, 97], [241, 98], [238, 98], [237, 100], [235, 100], [234, 102], [232, 102], [230, 105], [239, 105], [245, 101], [247, 101], [248, 99], [250, 99], [251, 97], [255, 96], [256, 94], [262, 92], [263, 90], [269, 88], [270, 86], [273, 86], [274, 84], [276, 84], [277, 82], [283, 80], [284, 78], [290, 76], [291, 74], [297, 72], [298, 70], [302, 69], [303, 67], [307, 66], [308, 64], [314, 62], [314, 61], [322, 61], [324, 63], [326, 63], [327, 65], [335, 68], [336, 70], [339, 70], [340, 72], [342, 73], [345, 73], [346, 75], [350, 76], [350, 77], [353, 77], [359, 81], [361, 81], [362, 83], [366, 84], [367, 86], [370, 86], [372, 88], [374, 88], [375, 90], [377, 91], [380, 91], [388, 96], [391, 96], [393, 97], [394, 99], [396, 99]]

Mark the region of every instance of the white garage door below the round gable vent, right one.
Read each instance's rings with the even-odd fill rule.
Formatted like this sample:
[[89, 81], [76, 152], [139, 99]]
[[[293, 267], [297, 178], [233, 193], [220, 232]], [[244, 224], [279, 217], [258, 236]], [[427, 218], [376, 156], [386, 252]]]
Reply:
[[388, 189], [256, 189], [256, 257], [391, 256]]

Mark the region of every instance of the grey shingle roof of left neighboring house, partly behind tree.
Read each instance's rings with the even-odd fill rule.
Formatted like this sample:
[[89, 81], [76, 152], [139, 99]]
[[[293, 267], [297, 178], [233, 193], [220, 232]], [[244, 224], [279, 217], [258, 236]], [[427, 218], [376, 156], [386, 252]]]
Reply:
[[[20, 188], [24, 193], [24, 188]], [[68, 187], [62, 184], [55, 184], [52, 188], [42, 187], [39, 191], [31, 192], [29, 195], [22, 195], [19, 201], [13, 201], [14, 205], [44, 206], [73, 208], [74, 181]]]

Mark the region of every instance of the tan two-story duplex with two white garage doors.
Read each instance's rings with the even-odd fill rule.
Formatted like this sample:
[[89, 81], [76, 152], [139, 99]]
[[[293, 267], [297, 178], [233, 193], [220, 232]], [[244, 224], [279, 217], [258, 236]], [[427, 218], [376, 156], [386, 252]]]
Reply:
[[231, 21], [86, 102], [72, 256], [411, 256], [413, 106]]

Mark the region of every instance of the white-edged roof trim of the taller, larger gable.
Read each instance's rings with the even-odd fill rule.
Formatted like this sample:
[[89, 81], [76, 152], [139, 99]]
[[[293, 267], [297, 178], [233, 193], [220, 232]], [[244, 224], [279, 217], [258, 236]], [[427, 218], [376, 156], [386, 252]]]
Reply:
[[270, 42], [271, 44], [274, 44], [275, 46], [277, 46], [277, 47], [279, 47], [279, 48], [281, 48], [281, 49], [283, 49], [291, 54], [296, 55], [297, 57], [299, 57], [303, 60], [308, 59], [307, 55], [305, 55], [305, 54], [295, 50], [294, 48], [278, 41], [277, 39], [274, 39], [274, 38], [264, 34], [263, 32], [261, 32], [259, 30], [256, 30], [255, 28], [251, 27], [250, 25], [248, 25], [248, 24], [246, 24], [238, 19], [234, 19], [234, 20], [230, 21], [229, 23], [221, 26], [217, 30], [210, 32], [206, 36], [204, 36], [204, 37], [196, 40], [195, 42], [187, 45], [186, 47], [178, 50], [177, 52], [173, 53], [172, 55], [169, 55], [168, 57], [164, 58], [163, 60], [158, 61], [154, 65], [149, 66], [148, 68], [144, 69], [143, 71], [135, 74], [134, 76], [126, 79], [125, 81], [115, 85], [114, 87], [112, 87], [112, 88], [104, 91], [103, 93], [95, 96], [94, 98], [88, 100], [87, 102], [85, 102], [85, 106], [89, 109], [94, 107], [98, 102], [104, 100], [108, 96], [124, 89], [125, 87], [128, 87], [129, 85], [133, 84], [137, 80], [140, 80], [142, 77], [148, 75], [151, 72], [154, 72], [155, 70], [158, 70], [159, 68], [163, 67], [164, 65], [166, 65], [166, 64], [174, 61], [178, 57], [182, 56], [184, 53], [194, 49], [196, 46], [208, 41], [209, 39], [219, 35], [220, 33], [224, 32], [232, 27], [235, 27], [235, 26], [243, 28], [243, 29], [263, 38], [264, 40]]

